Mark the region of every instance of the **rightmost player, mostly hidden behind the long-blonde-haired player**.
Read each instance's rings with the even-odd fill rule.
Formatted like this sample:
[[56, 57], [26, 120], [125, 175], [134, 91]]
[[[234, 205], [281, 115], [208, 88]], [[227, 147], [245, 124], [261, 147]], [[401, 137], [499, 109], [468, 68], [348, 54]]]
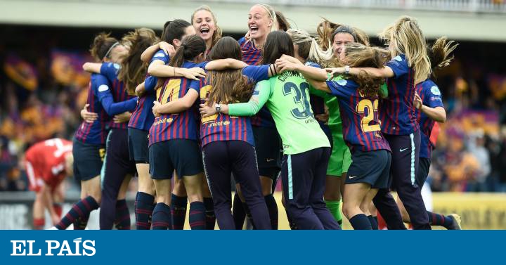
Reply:
[[[423, 187], [431, 164], [431, 152], [435, 143], [431, 141], [432, 130], [436, 122], [446, 121], [446, 111], [441, 98], [439, 87], [432, 81], [436, 79], [435, 70], [439, 70], [448, 66], [453, 56], [450, 57], [458, 44], [454, 41], [448, 41], [446, 37], [437, 39], [432, 47], [427, 48], [427, 55], [431, 62], [432, 78], [417, 84], [415, 93], [415, 108], [417, 111], [417, 121], [420, 124], [421, 141], [420, 141], [420, 162], [418, 166], [416, 183], [420, 188]], [[409, 215], [406, 212], [401, 200], [397, 200], [399, 209], [403, 216], [403, 221], [409, 223]], [[449, 230], [460, 230], [460, 216], [458, 214], [437, 214], [427, 211], [429, 215], [429, 224], [432, 226], [443, 226]]]

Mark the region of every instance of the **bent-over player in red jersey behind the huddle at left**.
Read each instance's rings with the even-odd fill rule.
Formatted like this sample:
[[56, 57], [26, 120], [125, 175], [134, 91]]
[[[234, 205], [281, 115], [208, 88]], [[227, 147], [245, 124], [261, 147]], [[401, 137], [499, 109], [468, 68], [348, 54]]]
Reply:
[[30, 190], [37, 193], [33, 206], [35, 229], [44, 228], [44, 209], [48, 209], [53, 225], [60, 221], [62, 209], [55, 202], [63, 200], [60, 184], [65, 176], [72, 175], [73, 164], [72, 142], [65, 139], [41, 141], [26, 151], [25, 168]]

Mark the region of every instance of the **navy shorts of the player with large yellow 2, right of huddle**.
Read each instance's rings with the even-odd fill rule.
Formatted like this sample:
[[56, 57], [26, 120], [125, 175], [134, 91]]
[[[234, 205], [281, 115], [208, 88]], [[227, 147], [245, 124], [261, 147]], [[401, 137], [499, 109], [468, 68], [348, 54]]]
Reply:
[[363, 152], [354, 150], [346, 184], [369, 183], [372, 188], [389, 186], [391, 154], [387, 150]]

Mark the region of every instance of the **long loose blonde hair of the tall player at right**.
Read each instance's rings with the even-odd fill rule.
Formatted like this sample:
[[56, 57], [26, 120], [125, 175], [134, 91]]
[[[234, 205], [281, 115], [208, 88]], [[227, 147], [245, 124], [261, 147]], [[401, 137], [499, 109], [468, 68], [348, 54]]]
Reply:
[[415, 84], [423, 82], [431, 73], [431, 64], [427, 56], [427, 44], [420, 30], [418, 22], [414, 18], [403, 16], [385, 28], [379, 35], [380, 38], [394, 41], [396, 54], [404, 54], [408, 65], [415, 71]]

